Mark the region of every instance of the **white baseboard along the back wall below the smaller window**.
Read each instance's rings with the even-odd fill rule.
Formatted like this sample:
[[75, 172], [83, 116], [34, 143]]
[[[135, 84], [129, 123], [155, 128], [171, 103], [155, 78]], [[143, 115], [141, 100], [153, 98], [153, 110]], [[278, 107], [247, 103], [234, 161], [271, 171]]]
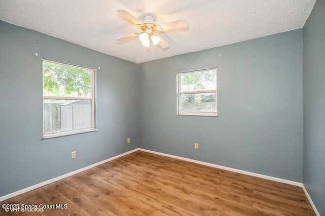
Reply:
[[166, 156], [166, 157], [172, 157], [172, 158], [176, 158], [176, 159], [180, 159], [180, 160], [185, 160], [185, 161], [189, 161], [189, 162], [193, 162], [193, 163], [198, 163], [198, 164], [202, 164], [202, 165], [206, 165], [206, 166], [211, 166], [211, 167], [215, 167], [215, 168], [219, 168], [219, 169], [225, 169], [225, 170], [228, 170], [228, 171], [238, 172], [240, 174], [245, 174], [245, 175], [248, 175], [248, 176], [258, 177], [258, 178], [262, 178], [262, 179], [268, 179], [268, 180], [272, 180], [272, 181], [275, 181], [275, 182], [281, 182], [281, 183], [294, 185], [294, 186], [298, 186], [298, 187], [303, 186], [303, 184], [300, 183], [300, 182], [294, 182], [294, 181], [280, 179], [280, 178], [276, 178], [276, 177], [272, 177], [272, 176], [256, 174], [254, 172], [244, 171], [244, 170], [230, 168], [230, 167], [226, 167], [226, 166], [220, 166], [220, 165], [216, 165], [216, 164], [213, 164], [213, 163], [203, 162], [203, 161], [200, 161], [200, 160], [193, 160], [193, 159], [189, 159], [189, 158], [185, 158], [185, 157], [179, 157], [179, 156], [175, 156], [175, 155], [171, 155], [171, 154], [165, 154], [165, 153], [155, 152], [155, 151], [151, 151], [151, 150], [147, 150], [147, 149], [141, 149], [141, 148], [139, 148], [139, 150], [144, 151], [144, 152], [149, 152], [149, 153], [153, 153], [153, 154]]

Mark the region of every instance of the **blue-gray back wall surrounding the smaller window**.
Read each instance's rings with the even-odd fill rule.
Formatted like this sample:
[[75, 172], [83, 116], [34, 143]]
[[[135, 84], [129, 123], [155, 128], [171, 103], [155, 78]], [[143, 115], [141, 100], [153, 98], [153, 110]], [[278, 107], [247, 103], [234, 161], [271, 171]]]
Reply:
[[[176, 73], [213, 67], [218, 117], [177, 116]], [[142, 63], [140, 147], [302, 182], [302, 91], [302, 29]]]

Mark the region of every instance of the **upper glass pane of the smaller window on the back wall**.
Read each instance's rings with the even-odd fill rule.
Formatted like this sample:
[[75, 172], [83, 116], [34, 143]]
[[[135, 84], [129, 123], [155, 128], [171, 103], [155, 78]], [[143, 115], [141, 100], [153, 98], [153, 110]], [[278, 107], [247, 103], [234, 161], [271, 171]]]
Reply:
[[215, 69], [192, 73], [182, 73], [180, 76], [181, 92], [217, 89], [217, 71]]

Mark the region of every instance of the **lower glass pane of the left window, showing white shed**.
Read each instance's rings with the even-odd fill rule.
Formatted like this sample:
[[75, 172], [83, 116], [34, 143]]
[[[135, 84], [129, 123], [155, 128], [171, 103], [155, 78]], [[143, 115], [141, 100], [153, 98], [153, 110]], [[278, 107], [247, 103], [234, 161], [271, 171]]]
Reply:
[[90, 100], [44, 99], [44, 133], [91, 127]]

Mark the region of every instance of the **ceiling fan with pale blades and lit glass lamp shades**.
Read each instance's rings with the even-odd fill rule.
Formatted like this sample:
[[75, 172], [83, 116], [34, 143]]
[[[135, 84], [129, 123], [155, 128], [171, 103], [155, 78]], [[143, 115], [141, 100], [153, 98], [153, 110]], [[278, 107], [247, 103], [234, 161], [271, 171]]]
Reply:
[[143, 15], [142, 16], [143, 20], [140, 21], [124, 10], [117, 10], [116, 12], [124, 19], [129, 20], [135, 23], [136, 25], [138, 25], [142, 30], [141, 32], [136, 32], [127, 35], [125, 37], [118, 38], [117, 41], [120, 42], [139, 36], [141, 44], [144, 47], [150, 47], [150, 41], [151, 41], [154, 46], [158, 44], [161, 48], [165, 49], [169, 47], [169, 44], [157, 34], [157, 31], [188, 27], [186, 20], [177, 20], [173, 22], [156, 25], [154, 21], [155, 17], [152, 14]]

